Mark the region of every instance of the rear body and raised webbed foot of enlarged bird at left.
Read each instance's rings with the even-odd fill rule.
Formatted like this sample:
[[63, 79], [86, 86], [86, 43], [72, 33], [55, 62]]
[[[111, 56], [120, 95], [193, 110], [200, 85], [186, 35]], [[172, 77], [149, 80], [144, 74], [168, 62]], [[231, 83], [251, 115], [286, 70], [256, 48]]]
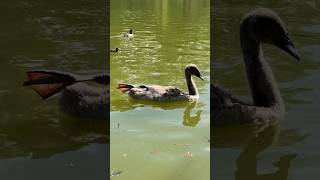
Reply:
[[[43, 99], [61, 91], [59, 107], [62, 111], [82, 118], [109, 118], [109, 75], [80, 76], [49, 70], [29, 71], [27, 75], [29, 80], [23, 86], [30, 86]], [[106, 87], [84, 83], [88, 81]]]

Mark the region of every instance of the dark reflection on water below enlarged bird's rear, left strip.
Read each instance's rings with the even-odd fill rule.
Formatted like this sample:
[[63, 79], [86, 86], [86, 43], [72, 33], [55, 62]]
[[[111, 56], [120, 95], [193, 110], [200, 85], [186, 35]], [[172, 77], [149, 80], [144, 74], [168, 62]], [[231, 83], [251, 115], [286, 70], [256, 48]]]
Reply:
[[[52, 124], [52, 127], [42, 127], [37, 131], [28, 125], [5, 127], [6, 133], [1, 134], [0, 158], [48, 158], [54, 154], [77, 150], [90, 143], [105, 144], [109, 139], [106, 134], [108, 127], [102, 121], [60, 118], [63, 121], [59, 122], [59, 127]], [[31, 120], [29, 123], [35, 122]], [[24, 136], [20, 135], [22, 132]]]

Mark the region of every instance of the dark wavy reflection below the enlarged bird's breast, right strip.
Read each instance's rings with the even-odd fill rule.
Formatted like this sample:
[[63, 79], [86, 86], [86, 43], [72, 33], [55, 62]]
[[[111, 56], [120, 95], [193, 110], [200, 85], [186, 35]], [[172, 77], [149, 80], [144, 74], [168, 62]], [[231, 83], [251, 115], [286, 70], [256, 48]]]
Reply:
[[[288, 146], [304, 140], [307, 136], [301, 135], [296, 130], [282, 130], [279, 125], [257, 128], [256, 126], [227, 126], [212, 127], [212, 149], [217, 148], [243, 148], [236, 160], [234, 177], [236, 180], [286, 180], [289, 168], [297, 154], [288, 153], [274, 162], [275, 172], [258, 173], [259, 153], [269, 147]], [[214, 154], [213, 154], [214, 155]], [[267, 157], [266, 157], [267, 158]], [[219, 171], [219, 166], [224, 167], [223, 162], [212, 161], [213, 172]], [[218, 165], [218, 163], [222, 163]], [[214, 176], [214, 175], [213, 175]]]

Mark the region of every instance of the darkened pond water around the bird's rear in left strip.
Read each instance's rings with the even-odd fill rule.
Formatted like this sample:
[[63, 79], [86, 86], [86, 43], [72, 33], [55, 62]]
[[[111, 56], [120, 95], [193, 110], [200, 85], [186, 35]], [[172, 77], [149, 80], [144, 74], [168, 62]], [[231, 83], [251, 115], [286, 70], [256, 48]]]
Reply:
[[72, 118], [22, 87], [25, 71], [106, 69], [104, 1], [3, 0], [0, 179], [106, 179], [106, 121]]

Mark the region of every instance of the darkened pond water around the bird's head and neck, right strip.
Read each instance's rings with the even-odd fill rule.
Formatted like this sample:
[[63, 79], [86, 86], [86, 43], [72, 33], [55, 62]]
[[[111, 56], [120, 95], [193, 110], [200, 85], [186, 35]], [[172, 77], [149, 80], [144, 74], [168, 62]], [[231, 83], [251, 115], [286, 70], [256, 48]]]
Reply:
[[[239, 45], [241, 17], [256, 7], [278, 12], [300, 51], [297, 63], [264, 46], [287, 107], [285, 121], [259, 133], [245, 127], [215, 127], [211, 169], [214, 179], [314, 179], [319, 176], [318, 1], [220, 1], [213, 3], [213, 82], [249, 98]], [[213, 115], [214, 116], [214, 115]]]

